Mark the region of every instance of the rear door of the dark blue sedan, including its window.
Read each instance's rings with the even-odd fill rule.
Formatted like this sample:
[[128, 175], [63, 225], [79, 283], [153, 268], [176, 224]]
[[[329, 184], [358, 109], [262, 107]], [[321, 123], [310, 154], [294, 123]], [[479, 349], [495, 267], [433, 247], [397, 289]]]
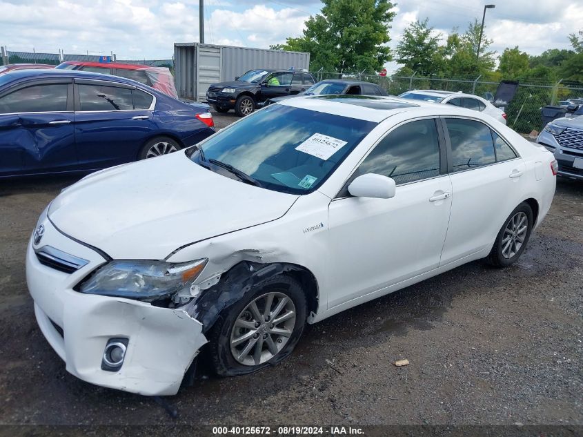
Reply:
[[158, 130], [156, 99], [135, 86], [75, 79], [75, 140], [87, 170], [135, 161]]

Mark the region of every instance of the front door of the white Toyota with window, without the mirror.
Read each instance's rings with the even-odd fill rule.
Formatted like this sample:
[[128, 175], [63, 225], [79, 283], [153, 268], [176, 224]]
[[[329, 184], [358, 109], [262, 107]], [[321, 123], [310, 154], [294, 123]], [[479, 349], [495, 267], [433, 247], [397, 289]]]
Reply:
[[402, 124], [375, 146], [355, 173], [392, 177], [395, 197], [348, 196], [330, 202], [333, 292], [328, 308], [439, 266], [451, 210], [451, 181], [440, 160], [442, 149], [435, 119]]

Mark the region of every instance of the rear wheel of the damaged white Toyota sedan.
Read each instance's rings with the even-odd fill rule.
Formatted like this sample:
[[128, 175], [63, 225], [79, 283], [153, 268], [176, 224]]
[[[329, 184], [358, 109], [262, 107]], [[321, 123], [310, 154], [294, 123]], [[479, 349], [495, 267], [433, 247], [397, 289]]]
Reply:
[[533, 210], [523, 202], [508, 215], [486, 260], [496, 267], [515, 263], [524, 252], [532, 230]]

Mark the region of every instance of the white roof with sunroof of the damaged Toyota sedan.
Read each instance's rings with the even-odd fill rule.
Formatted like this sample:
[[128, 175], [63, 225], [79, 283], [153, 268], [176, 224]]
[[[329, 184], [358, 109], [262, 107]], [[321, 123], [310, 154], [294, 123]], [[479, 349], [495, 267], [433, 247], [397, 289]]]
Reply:
[[[404, 112], [415, 112], [419, 116], [462, 115], [483, 118], [475, 110], [428, 101], [400, 99], [399, 97], [365, 95], [319, 95], [301, 96], [277, 102], [278, 105], [315, 110], [369, 122], [380, 123], [384, 119]], [[488, 117], [488, 116], [486, 116]], [[489, 120], [488, 120], [489, 121]]]

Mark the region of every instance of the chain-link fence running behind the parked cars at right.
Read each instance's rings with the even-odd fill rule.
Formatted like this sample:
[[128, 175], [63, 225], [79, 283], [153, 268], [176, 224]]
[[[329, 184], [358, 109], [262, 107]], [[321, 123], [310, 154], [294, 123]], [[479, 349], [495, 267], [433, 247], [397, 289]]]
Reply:
[[[410, 90], [442, 90], [454, 93], [468, 93], [487, 99], [487, 93], [495, 95], [499, 82], [482, 81], [480, 77], [436, 78], [366, 75], [364, 72], [346, 74], [338, 72], [312, 72], [317, 80], [357, 79], [382, 86], [390, 95], [400, 95]], [[541, 110], [543, 106], [558, 104], [561, 100], [583, 98], [583, 84], [559, 81], [557, 84], [538, 82], [519, 84], [516, 95], [504, 112], [507, 124], [518, 133], [540, 132], [543, 127]]]

